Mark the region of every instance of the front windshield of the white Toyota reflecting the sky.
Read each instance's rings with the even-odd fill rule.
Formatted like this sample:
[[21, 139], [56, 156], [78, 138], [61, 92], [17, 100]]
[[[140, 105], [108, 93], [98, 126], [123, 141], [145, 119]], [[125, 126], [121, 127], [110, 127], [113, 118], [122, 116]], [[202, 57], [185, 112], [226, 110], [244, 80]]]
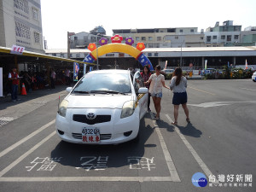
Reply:
[[131, 83], [127, 74], [88, 73], [75, 86], [73, 93], [131, 93]]

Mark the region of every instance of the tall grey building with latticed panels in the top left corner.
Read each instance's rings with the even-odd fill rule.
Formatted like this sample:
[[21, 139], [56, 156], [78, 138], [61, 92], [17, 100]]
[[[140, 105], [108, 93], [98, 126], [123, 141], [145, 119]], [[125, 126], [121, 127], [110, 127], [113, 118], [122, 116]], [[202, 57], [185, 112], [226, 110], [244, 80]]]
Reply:
[[1, 0], [0, 26], [0, 46], [44, 53], [40, 0]]

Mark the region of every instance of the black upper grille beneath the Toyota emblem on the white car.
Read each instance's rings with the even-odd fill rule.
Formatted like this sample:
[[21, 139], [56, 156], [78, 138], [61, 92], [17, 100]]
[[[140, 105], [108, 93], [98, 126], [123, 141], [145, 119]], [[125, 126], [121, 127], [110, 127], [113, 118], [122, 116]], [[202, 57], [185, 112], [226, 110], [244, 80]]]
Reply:
[[95, 125], [109, 122], [111, 120], [111, 115], [100, 114], [96, 116], [96, 119], [87, 119], [85, 114], [74, 114], [73, 120], [88, 125]]

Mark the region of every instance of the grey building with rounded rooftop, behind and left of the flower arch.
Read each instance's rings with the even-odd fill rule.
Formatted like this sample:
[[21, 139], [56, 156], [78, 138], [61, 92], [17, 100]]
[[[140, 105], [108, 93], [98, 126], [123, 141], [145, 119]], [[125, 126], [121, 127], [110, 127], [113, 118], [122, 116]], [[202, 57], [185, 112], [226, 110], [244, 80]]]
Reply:
[[70, 36], [70, 48], [71, 49], [87, 49], [90, 43], [96, 43], [96, 38], [99, 41], [100, 38], [107, 38], [110, 42], [109, 36], [106, 36], [106, 31], [102, 26], [96, 26], [90, 32], [78, 32]]

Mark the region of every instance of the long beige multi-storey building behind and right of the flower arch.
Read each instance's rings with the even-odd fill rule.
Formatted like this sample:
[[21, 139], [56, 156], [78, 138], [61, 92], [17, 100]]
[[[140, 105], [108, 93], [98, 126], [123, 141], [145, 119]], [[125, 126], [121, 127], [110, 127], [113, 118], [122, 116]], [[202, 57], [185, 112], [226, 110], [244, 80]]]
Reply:
[[133, 38], [135, 44], [143, 42], [147, 48], [201, 47], [204, 45], [203, 34], [197, 27], [150, 28], [150, 29], [113, 29], [113, 35]]

